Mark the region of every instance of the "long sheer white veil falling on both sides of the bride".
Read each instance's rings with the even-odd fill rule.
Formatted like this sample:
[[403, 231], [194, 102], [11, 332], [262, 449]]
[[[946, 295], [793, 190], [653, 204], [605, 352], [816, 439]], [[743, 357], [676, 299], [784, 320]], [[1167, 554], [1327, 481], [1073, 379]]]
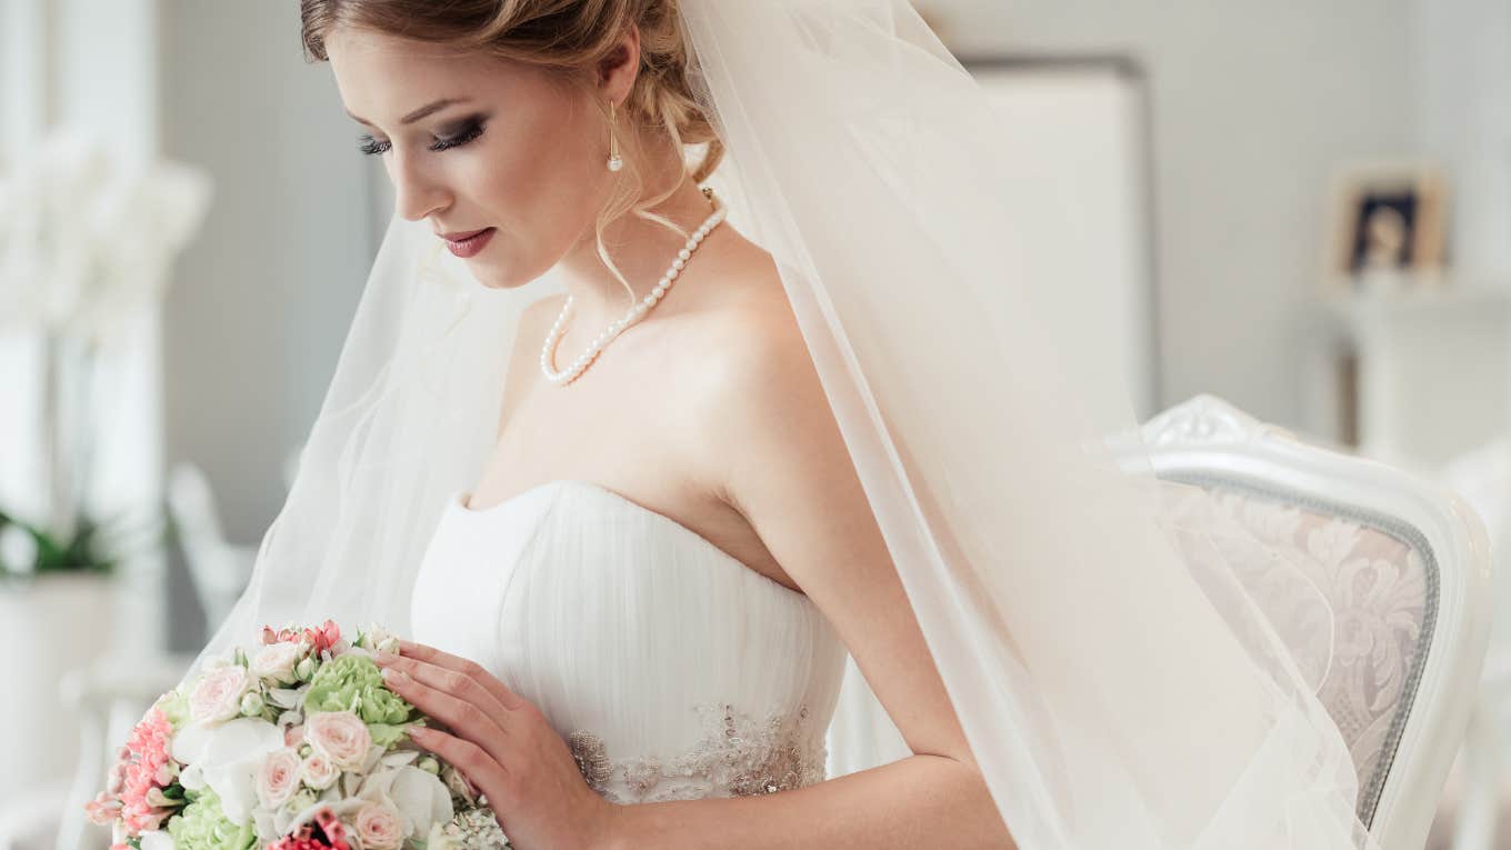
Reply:
[[[1306, 659], [1219, 555], [1239, 532], [1135, 469], [1117, 316], [1031, 250], [988, 97], [904, 0], [680, 8], [727, 148], [709, 185], [778, 262], [1017, 842], [1366, 845]], [[390, 224], [289, 502], [201, 659], [263, 623], [408, 631], [446, 498], [488, 457], [517, 315], [552, 289], [484, 289], [438, 248]], [[858, 685], [833, 735], [849, 767], [884, 726]]]

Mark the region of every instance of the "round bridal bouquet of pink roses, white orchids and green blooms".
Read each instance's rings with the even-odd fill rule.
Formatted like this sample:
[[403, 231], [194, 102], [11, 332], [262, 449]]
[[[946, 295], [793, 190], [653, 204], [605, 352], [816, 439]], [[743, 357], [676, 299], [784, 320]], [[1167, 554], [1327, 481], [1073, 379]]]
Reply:
[[86, 805], [112, 850], [506, 850], [487, 799], [409, 741], [381, 628], [264, 628], [163, 694]]

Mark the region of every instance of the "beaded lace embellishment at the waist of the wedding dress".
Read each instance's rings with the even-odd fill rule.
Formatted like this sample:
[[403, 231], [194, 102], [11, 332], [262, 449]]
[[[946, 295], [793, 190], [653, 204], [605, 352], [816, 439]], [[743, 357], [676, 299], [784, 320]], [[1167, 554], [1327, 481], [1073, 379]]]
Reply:
[[[576, 731], [567, 747], [588, 786], [612, 803], [659, 803], [703, 797], [754, 797], [823, 780], [822, 737], [811, 741], [808, 706], [756, 720], [730, 705], [701, 705], [703, 735], [688, 752], [610, 759], [603, 738]], [[623, 783], [616, 785], [615, 777]]]

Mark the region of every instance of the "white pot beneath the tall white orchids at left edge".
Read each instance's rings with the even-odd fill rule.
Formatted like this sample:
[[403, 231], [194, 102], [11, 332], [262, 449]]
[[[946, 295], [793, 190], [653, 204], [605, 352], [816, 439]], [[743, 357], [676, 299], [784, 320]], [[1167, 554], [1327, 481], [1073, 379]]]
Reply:
[[104, 655], [116, 587], [98, 573], [0, 581], [0, 731], [9, 750], [0, 759], [0, 800], [73, 776], [79, 717], [63, 705], [59, 682]]

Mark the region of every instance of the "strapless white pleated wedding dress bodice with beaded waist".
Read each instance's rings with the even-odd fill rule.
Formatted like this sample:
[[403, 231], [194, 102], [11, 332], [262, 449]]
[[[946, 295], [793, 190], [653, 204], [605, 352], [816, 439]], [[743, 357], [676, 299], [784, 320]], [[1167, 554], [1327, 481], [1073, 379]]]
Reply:
[[845, 647], [807, 596], [604, 487], [458, 493], [413, 599], [420, 643], [532, 700], [615, 803], [825, 776]]

